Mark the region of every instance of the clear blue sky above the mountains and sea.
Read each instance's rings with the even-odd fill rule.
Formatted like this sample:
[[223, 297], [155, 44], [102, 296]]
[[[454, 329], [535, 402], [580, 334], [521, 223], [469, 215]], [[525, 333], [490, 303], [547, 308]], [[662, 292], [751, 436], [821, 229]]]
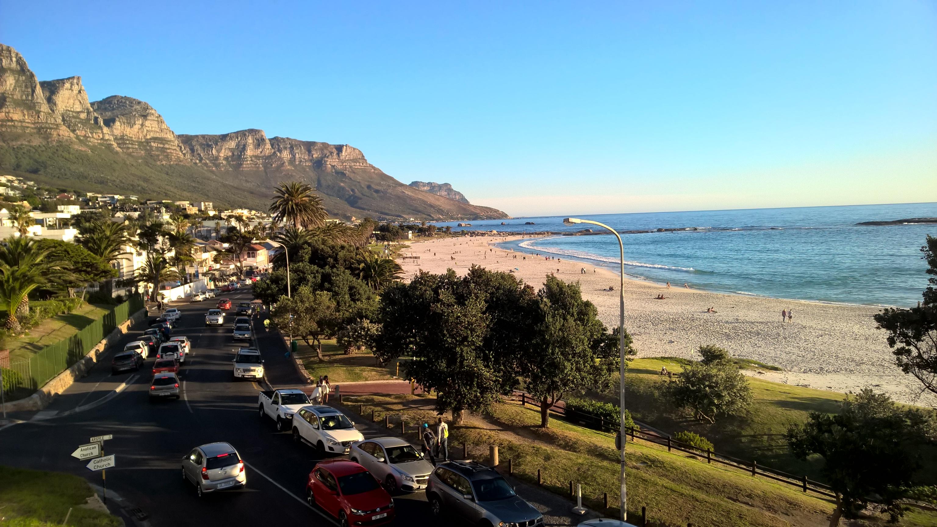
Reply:
[[933, 2], [143, 4], [0, 0], [0, 42], [513, 215], [937, 201]]

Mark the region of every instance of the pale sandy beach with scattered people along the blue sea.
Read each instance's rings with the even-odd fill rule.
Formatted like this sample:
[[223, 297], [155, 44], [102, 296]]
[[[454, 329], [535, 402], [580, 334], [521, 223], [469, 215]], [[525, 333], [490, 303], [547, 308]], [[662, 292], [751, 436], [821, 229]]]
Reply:
[[[520, 237], [409, 242], [398, 262], [406, 279], [420, 269], [444, 273], [452, 268], [464, 275], [472, 264], [478, 264], [505, 272], [516, 268], [517, 278], [538, 289], [548, 273], [567, 281], [578, 280], [583, 297], [596, 305], [602, 322], [609, 328], [617, 326], [616, 273], [581, 262], [545, 260], [543, 256], [495, 247]], [[584, 268], [586, 273], [582, 274]], [[609, 286], [615, 291], [603, 291]], [[872, 320], [879, 308], [709, 293], [692, 289], [692, 283], [691, 289], [685, 289], [682, 283], [671, 286], [668, 289], [644, 280], [625, 281], [625, 327], [632, 334], [639, 356], [699, 359], [696, 349], [700, 345], [715, 344], [733, 356], [783, 369], [746, 371], [767, 381], [837, 392], [871, 387], [901, 402], [937, 405], [937, 398], [922, 395], [918, 381], [895, 366], [885, 332], [876, 329]], [[666, 298], [656, 300], [658, 294]], [[716, 312], [706, 312], [710, 307]], [[793, 322], [781, 323], [781, 309], [794, 309]]]

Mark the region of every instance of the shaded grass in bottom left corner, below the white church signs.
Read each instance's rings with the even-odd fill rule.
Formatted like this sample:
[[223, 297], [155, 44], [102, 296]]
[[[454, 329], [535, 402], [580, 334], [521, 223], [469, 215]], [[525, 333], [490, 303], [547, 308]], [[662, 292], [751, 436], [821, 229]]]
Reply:
[[[0, 466], [0, 525], [123, 525], [124, 522], [117, 517], [83, 506], [93, 494], [87, 482], [77, 475]], [[66, 516], [68, 522], [63, 523]]]

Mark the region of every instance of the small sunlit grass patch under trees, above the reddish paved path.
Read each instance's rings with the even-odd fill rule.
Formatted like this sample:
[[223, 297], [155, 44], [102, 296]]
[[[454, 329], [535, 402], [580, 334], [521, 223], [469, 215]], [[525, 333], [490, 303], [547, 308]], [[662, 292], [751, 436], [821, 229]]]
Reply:
[[316, 350], [306, 346], [302, 340], [299, 341], [299, 352], [296, 356], [303, 359], [305, 369], [313, 379], [319, 379], [320, 375], [328, 375], [332, 384], [391, 380], [396, 373], [396, 362], [379, 366], [377, 359], [370, 353], [347, 355], [335, 343], [335, 339], [322, 340], [324, 362], [320, 362]]

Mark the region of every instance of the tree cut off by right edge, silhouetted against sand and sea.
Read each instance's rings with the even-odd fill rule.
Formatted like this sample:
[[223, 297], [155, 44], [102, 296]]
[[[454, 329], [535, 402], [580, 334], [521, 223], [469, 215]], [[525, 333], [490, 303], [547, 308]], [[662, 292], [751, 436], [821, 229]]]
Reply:
[[928, 236], [921, 252], [930, 275], [924, 301], [912, 309], [883, 309], [875, 322], [888, 332], [888, 345], [901, 371], [937, 394], [937, 237]]

